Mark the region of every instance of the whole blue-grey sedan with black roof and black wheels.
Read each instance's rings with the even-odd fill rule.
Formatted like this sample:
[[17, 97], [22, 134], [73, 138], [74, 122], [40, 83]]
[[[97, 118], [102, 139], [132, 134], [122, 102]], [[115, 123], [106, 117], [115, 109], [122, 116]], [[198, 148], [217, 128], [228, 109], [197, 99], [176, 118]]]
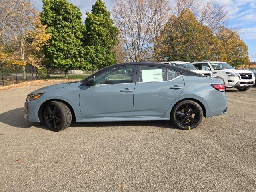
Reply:
[[169, 64], [115, 64], [72, 83], [28, 94], [25, 118], [53, 131], [76, 122], [172, 120], [192, 129], [204, 117], [227, 112], [223, 80]]

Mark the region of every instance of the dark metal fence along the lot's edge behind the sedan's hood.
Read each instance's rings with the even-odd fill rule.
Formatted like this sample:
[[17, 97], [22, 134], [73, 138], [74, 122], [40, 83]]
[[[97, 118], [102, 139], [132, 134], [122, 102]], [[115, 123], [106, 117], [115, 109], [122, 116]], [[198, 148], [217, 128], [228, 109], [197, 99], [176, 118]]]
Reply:
[[[67, 78], [82, 79], [91, 73], [90, 71], [69, 70]], [[65, 71], [58, 67], [35, 68], [34, 66], [1, 63], [0, 76], [0, 86], [6, 86], [39, 79], [64, 79]]]

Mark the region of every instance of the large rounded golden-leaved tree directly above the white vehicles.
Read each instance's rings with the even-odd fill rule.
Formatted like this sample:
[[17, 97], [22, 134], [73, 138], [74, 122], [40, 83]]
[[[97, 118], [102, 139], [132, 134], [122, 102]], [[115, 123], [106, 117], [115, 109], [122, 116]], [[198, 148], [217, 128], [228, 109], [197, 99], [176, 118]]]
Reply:
[[154, 55], [158, 61], [202, 60], [210, 55], [213, 38], [210, 28], [200, 24], [186, 9], [179, 16], [170, 17], [157, 39]]

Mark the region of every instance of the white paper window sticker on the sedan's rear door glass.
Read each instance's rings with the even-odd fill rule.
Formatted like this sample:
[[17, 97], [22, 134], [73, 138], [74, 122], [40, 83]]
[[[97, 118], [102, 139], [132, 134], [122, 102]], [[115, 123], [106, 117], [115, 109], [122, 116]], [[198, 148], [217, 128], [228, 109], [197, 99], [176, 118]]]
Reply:
[[142, 82], [163, 81], [162, 69], [142, 70]]

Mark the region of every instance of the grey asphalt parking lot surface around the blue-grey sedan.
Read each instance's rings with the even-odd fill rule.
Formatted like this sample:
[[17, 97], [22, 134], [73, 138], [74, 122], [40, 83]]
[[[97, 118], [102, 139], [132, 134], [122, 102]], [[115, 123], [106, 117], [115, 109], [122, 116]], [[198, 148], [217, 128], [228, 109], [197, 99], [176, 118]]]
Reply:
[[256, 87], [228, 90], [228, 113], [193, 130], [146, 121], [52, 132], [23, 110], [49, 83], [0, 91], [1, 192], [256, 190]]

